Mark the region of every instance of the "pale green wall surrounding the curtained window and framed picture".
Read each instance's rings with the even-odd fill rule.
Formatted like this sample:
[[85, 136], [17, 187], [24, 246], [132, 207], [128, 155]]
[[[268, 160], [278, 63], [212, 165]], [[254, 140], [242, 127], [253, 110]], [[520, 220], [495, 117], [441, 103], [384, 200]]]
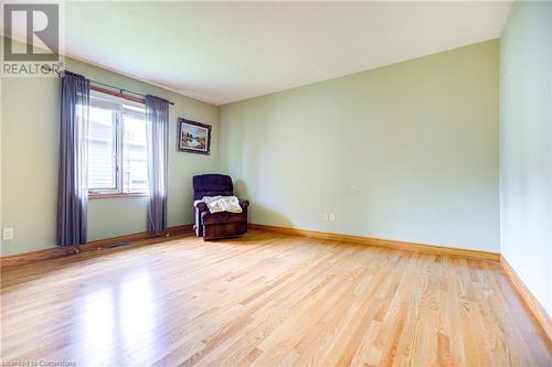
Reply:
[[[176, 102], [170, 108], [169, 226], [190, 224], [191, 179], [217, 168], [217, 108], [73, 60], [67, 68], [88, 78]], [[2, 78], [1, 82], [2, 228], [14, 239], [2, 241], [2, 256], [55, 246], [59, 144], [59, 79]], [[177, 118], [213, 126], [211, 155], [177, 152]], [[146, 230], [146, 198], [95, 199], [88, 203], [88, 239]]]

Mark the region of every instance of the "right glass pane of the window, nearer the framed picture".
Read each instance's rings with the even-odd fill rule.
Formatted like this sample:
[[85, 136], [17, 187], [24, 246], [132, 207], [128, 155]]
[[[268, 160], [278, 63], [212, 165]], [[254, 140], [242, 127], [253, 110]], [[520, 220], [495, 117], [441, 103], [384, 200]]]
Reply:
[[127, 193], [148, 191], [146, 116], [144, 111], [124, 111], [123, 187]]

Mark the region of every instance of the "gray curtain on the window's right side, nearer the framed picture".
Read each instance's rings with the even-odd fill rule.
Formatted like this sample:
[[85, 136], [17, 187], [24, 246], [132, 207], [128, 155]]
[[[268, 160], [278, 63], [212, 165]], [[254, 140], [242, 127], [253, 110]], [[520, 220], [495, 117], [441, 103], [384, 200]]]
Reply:
[[169, 163], [169, 102], [146, 96], [146, 133], [148, 140], [148, 229], [167, 228], [167, 192]]

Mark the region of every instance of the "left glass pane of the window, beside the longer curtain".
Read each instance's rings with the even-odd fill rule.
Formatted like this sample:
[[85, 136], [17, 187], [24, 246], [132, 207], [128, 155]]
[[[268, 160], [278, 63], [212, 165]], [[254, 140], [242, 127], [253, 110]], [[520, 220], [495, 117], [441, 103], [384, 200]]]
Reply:
[[117, 190], [115, 112], [91, 106], [88, 125], [88, 190]]

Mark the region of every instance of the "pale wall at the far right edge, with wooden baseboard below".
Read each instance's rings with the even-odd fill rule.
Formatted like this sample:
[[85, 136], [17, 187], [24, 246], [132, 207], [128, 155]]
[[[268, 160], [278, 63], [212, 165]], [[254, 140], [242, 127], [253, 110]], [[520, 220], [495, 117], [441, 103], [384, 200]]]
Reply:
[[552, 315], [552, 2], [513, 3], [500, 41], [500, 251]]

